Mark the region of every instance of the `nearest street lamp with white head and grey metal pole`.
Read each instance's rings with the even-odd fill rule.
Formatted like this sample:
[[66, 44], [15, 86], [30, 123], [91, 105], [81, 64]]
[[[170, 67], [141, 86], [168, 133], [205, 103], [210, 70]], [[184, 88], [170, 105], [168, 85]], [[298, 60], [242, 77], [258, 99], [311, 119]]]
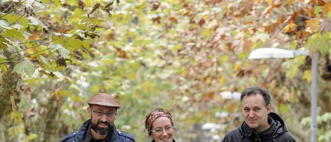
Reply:
[[[294, 58], [296, 55], [308, 56], [308, 50], [286, 50], [279, 48], [259, 48], [253, 50], [248, 59], [272, 59], [272, 58]], [[317, 54], [313, 53], [311, 57], [311, 126], [310, 142], [317, 141]]]

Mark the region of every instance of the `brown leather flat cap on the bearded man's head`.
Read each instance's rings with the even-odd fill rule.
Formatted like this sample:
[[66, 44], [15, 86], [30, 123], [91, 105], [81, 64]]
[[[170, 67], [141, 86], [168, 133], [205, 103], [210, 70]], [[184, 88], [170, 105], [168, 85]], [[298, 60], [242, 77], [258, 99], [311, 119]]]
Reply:
[[99, 106], [107, 106], [107, 107], [115, 107], [120, 108], [118, 102], [106, 93], [99, 93], [91, 97], [91, 99], [87, 102], [87, 104], [91, 105], [99, 105]]

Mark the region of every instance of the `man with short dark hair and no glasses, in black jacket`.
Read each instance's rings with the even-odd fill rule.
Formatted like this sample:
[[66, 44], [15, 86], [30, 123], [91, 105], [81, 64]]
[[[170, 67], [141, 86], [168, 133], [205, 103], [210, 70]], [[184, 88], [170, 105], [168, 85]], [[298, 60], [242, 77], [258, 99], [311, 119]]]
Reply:
[[260, 87], [245, 89], [240, 96], [245, 121], [228, 132], [222, 142], [295, 142], [285, 123], [270, 112], [270, 95]]

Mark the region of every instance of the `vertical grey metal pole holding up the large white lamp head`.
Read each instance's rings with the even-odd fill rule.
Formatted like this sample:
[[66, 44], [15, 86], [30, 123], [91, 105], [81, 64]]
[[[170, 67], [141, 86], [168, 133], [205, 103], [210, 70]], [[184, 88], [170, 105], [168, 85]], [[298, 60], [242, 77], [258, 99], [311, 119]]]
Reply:
[[310, 126], [310, 142], [317, 141], [317, 124], [316, 124], [316, 109], [317, 109], [317, 54], [313, 53], [311, 57], [311, 126]]

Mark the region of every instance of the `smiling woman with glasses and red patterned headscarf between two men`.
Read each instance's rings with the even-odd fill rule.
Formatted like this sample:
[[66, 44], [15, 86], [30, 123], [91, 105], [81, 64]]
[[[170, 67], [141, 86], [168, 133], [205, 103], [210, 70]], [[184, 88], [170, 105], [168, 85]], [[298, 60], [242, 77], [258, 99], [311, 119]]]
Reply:
[[145, 130], [153, 138], [152, 142], [175, 142], [173, 133], [176, 129], [173, 127], [171, 114], [162, 108], [147, 114]]

